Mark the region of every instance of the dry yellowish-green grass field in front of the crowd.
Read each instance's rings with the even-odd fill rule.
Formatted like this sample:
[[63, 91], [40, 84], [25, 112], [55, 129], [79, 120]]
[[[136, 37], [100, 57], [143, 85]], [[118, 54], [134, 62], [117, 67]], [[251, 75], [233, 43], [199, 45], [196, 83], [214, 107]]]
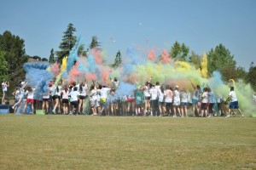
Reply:
[[256, 119], [0, 116], [0, 169], [255, 169]]

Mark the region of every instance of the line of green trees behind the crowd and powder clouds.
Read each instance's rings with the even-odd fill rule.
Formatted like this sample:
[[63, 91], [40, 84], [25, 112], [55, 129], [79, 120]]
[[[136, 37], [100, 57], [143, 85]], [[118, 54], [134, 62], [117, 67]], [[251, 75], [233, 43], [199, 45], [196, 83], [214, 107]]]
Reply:
[[[0, 80], [6, 79], [10, 81], [9, 90], [14, 90], [18, 82], [25, 77], [25, 71], [23, 64], [28, 59], [37, 59], [39, 61], [61, 64], [62, 59], [68, 56], [70, 50], [73, 48], [77, 37], [74, 36], [76, 28], [72, 23], [68, 24], [67, 30], [63, 32], [63, 37], [60, 42], [60, 50], [54, 51], [54, 48], [50, 50], [49, 59], [41, 58], [39, 56], [29, 56], [26, 54], [25, 41], [19, 36], [13, 35], [10, 31], [4, 31], [0, 34]], [[97, 48], [102, 50], [101, 42], [98, 42], [96, 36], [92, 37], [89, 48]], [[84, 44], [79, 47], [79, 55], [87, 57], [89, 48], [84, 49]], [[191, 65], [195, 65], [196, 69], [201, 69], [202, 56], [196, 54], [194, 51], [190, 52], [190, 49], [186, 44], [180, 42], [174, 42], [170, 48], [170, 56], [172, 59], [186, 61]], [[237, 66], [234, 55], [230, 53], [228, 48], [224, 47], [224, 44], [220, 43], [215, 48], [211, 48], [207, 52], [207, 65], [208, 65], [208, 77], [212, 77], [213, 71], [219, 71], [222, 75], [224, 82], [230, 79], [241, 79], [244, 82], [250, 83], [253, 89], [256, 91], [256, 66], [252, 62], [249, 70], [241, 66]], [[122, 64], [122, 55], [120, 51], [117, 52], [115, 59], [113, 60], [113, 68], [117, 68]]]

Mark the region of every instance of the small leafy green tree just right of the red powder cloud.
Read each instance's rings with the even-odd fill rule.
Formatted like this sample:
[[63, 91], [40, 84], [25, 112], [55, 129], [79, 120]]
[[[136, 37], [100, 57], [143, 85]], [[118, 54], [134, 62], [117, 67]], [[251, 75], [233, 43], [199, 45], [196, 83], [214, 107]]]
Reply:
[[171, 56], [173, 59], [186, 61], [189, 54], [189, 47], [186, 46], [184, 43], [182, 45], [179, 42], [174, 42], [171, 48]]

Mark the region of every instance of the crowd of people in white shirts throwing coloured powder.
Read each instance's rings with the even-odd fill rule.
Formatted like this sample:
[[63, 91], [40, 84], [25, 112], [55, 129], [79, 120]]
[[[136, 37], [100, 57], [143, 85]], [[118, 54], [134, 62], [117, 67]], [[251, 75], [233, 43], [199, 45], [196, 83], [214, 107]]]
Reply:
[[[15, 95], [13, 109], [16, 112], [24, 102], [22, 113], [26, 113], [26, 107], [31, 105], [32, 113], [35, 113], [35, 110], [44, 110], [46, 114], [64, 115], [212, 117], [235, 115], [234, 109], [237, 109], [243, 116], [234, 87], [230, 88], [229, 97], [224, 99], [223, 96], [214, 94], [207, 86], [195, 86], [191, 82], [194, 90], [189, 92], [186, 88], [180, 89], [178, 86], [160, 85], [160, 82], [153, 84], [151, 79], [152, 77], [131, 94], [118, 98], [114, 97], [119, 87], [117, 78], [111, 80], [108, 86], [93, 81], [90, 87], [85, 80], [70, 84], [50, 81], [49, 87], [38, 98], [34, 95], [36, 89], [23, 81], [13, 93]], [[9, 82], [4, 80], [3, 99], [7, 93], [7, 87]], [[87, 110], [87, 108], [90, 109]]]

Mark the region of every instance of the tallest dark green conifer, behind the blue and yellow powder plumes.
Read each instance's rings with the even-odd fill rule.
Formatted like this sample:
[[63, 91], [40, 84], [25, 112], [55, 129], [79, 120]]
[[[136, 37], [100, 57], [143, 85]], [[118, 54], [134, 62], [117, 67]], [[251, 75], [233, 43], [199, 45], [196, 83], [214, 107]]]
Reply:
[[67, 26], [67, 31], [64, 31], [64, 36], [62, 37], [62, 42], [59, 46], [61, 49], [60, 51], [57, 51], [57, 61], [58, 63], [62, 62], [62, 59], [65, 56], [68, 56], [70, 50], [73, 48], [75, 42], [77, 41], [77, 37], [74, 36], [74, 32], [76, 29], [73, 27], [72, 23], [69, 23]]

